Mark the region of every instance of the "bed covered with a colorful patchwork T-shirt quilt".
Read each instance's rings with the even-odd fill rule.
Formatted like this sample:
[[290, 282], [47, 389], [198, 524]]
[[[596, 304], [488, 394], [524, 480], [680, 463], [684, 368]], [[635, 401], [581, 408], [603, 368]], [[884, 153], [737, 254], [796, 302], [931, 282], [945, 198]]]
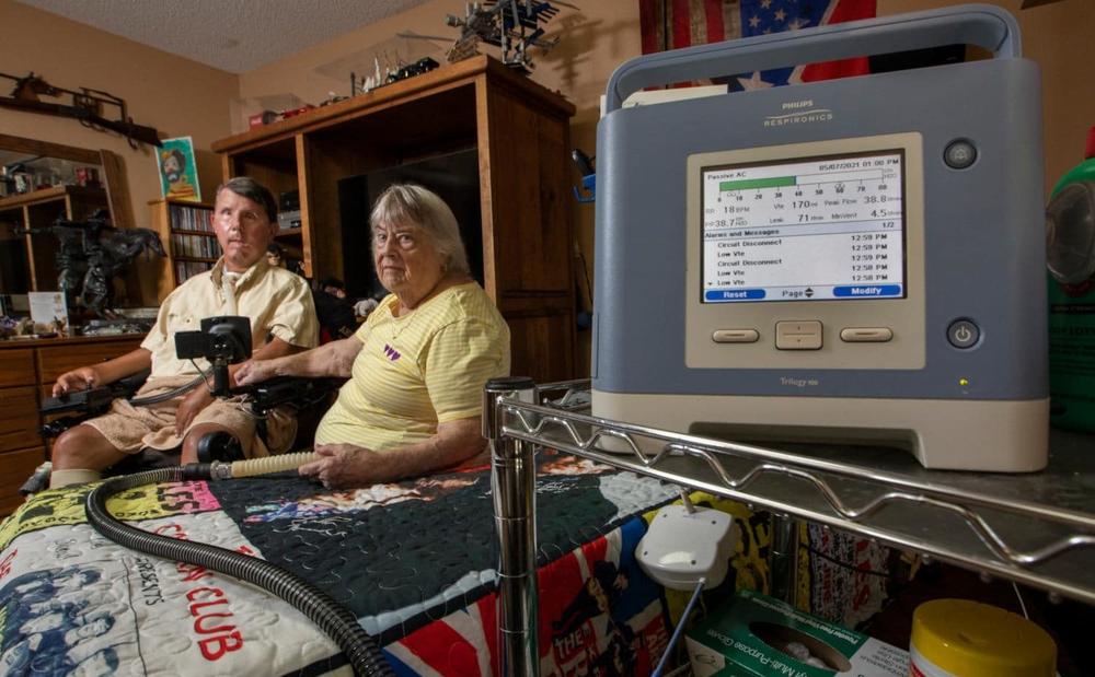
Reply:
[[[637, 568], [657, 480], [538, 457], [542, 675], [636, 675], [669, 639]], [[487, 468], [356, 491], [295, 476], [146, 486], [111, 499], [143, 529], [275, 562], [346, 605], [399, 675], [489, 675], [497, 553]], [[126, 550], [87, 524], [87, 489], [0, 525], [0, 674], [350, 674], [302, 614], [250, 584]]]

